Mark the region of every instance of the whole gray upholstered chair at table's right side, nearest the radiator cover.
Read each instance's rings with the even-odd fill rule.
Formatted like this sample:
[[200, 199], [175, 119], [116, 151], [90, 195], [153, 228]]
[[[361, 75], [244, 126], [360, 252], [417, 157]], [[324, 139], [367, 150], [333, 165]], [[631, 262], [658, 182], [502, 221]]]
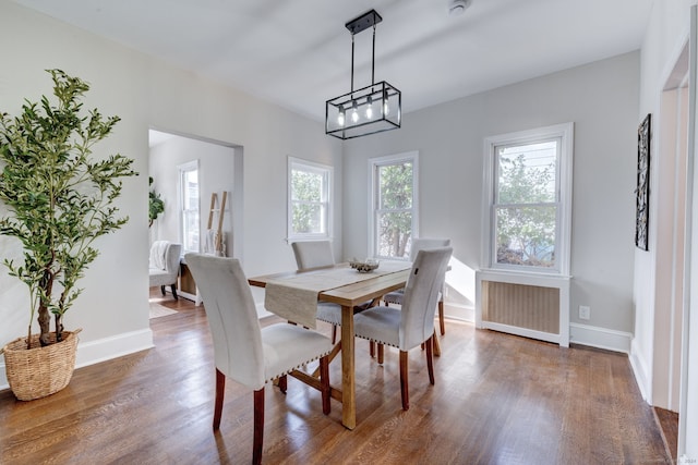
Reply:
[[405, 286], [401, 309], [394, 307], [371, 308], [354, 316], [353, 329], [357, 338], [376, 342], [400, 351], [400, 392], [402, 409], [408, 409], [408, 351], [421, 345], [426, 347], [429, 381], [434, 384], [433, 338], [436, 301], [444, 284], [446, 267], [453, 248], [422, 249], [412, 262]]

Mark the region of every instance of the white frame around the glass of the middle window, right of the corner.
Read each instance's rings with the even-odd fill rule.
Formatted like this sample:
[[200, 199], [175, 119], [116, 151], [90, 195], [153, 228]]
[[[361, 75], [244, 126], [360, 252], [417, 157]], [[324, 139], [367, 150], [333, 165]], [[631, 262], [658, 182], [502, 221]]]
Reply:
[[377, 254], [377, 205], [378, 205], [378, 168], [387, 164], [398, 164], [400, 162], [412, 163], [412, 237], [419, 237], [419, 152], [406, 151], [401, 154], [388, 155], [369, 159], [369, 180], [371, 182], [371, 195], [369, 196], [369, 257], [385, 258], [392, 260], [409, 260], [406, 257], [381, 257]]

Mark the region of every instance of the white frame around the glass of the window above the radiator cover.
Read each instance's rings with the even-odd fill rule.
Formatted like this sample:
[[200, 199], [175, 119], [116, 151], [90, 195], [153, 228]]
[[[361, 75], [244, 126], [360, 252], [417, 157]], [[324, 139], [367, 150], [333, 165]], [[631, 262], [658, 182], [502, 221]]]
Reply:
[[[556, 184], [558, 205], [556, 215], [555, 266], [553, 268], [515, 266], [496, 262], [495, 189], [496, 147], [526, 145], [550, 139], [561, 139]], [[484, 195], [482, 208], [482, 265], [484, 269], [517, 271], [525, 273], [569, 276], [571, 237], [574, 123], [563, 123], [529, 131], [486, 137], [484, 140]]]

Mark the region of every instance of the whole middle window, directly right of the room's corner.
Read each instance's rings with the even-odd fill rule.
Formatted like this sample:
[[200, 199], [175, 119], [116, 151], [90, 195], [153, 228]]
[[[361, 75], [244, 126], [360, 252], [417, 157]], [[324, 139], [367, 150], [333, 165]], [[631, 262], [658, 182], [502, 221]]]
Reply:
[[418, 236], [418, 154], [407, 152], [369, 160], [372, 211], [370, 255], [408, 258]]

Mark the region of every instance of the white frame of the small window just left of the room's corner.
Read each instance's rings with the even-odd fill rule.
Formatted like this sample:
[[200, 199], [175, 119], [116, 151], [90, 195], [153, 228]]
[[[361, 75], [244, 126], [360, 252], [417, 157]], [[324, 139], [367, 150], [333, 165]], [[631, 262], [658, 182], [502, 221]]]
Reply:
[[[291, 198], [292, 173], [294, 170], [306, 171], [324, 176], [323, 192], [321, 193], [321, 206], [324, 211], [323, 223], [324, 233], [296, 233], [293, 231], [293, 199]], [[287, 181], [287, 241], [320, 241], [332, 240], [333, 233], [333, 186], [335, 181], [335, 169], [328, 164], [316, 163], [300, 158], [288, 157], [288, 181]]]

